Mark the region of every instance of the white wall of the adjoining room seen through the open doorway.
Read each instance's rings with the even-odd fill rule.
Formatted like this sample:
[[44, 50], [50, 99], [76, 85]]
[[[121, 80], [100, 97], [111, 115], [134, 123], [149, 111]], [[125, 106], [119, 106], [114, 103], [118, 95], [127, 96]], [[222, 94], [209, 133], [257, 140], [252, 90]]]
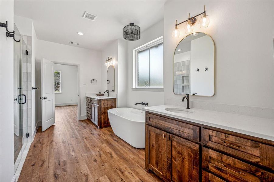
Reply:
[[78, 102], [78, 66], [54, 65], [61, 71], [61, 93], [55, 93], [55, 106], [75, 105]]

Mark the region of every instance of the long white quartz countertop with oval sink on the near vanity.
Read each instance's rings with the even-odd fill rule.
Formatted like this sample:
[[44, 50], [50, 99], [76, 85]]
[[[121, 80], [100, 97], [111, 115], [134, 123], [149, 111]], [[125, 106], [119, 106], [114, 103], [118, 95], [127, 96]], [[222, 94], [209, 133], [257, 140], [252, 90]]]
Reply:
[[[165, 110], [166, 108], [180, 108], [193, 113], [174, 113]], [[274, 141], [273, 119], [210, 110], [186, 109], [185, 107], [172, 105], [144, 107], [142, 109], [152, 113], [158, 113], [165, 116]]]

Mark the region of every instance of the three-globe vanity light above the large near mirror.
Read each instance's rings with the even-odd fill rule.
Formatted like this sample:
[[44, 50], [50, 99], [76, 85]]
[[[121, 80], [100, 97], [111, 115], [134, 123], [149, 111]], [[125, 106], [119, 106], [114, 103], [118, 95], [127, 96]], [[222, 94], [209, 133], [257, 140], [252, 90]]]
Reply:
[[[199, 16], [199, 15], [202, 15], [202, 18], [199, 21], [200, 28], [202, 28], [202, 29], [206, 28], [209, 25], [210, 20], [207, 17], [208, 15], [206, 15], [206, 5], [204, 5], [204, 11], [202, 13], [200, 13], [198, 15], [195, 15], [195, 16], [192, 16], [191, 18], [190, 18], [190, 14], [189, 14], [187, 20], [185, 20], [185, 21], [183, 21], [181, 23], [178, 23], [178, 24], [177, 24], [177, 20], [176, 20], [174, 30], [172, 31], [172, 37], [176, 37], [176, 38], [179, 37], [180, 31], [178, 30], [179, 29], [178, 25], [180, 25], [180, 24], [182, 24], [184, 22], [187, 22], [186, 26], [185, 26], [185, 32], [187, 34], [190, 34], [193, 31], [193, 25], [195, 25], [195, 23], [197, 21], [196, 17]], [[196, 36], [196, 35], [197, 34], [191, 35], [191, 36], [193, 37], [193, 36]]]

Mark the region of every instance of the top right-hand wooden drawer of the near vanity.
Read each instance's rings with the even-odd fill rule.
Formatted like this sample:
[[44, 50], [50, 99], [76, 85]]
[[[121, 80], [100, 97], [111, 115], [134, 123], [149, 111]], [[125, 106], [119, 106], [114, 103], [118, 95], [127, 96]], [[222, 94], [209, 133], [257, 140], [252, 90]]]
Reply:
[[202, 143], [274, 170], [274, 147], [202, 128]]

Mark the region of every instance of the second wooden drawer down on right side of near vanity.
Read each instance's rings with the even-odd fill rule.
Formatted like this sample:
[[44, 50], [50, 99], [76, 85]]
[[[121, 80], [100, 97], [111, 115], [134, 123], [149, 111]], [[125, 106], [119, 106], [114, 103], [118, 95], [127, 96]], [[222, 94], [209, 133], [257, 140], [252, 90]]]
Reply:
[[274, 174], [222, 153], [202, 147], [202, 167], [228, 181], [272, 181]]

